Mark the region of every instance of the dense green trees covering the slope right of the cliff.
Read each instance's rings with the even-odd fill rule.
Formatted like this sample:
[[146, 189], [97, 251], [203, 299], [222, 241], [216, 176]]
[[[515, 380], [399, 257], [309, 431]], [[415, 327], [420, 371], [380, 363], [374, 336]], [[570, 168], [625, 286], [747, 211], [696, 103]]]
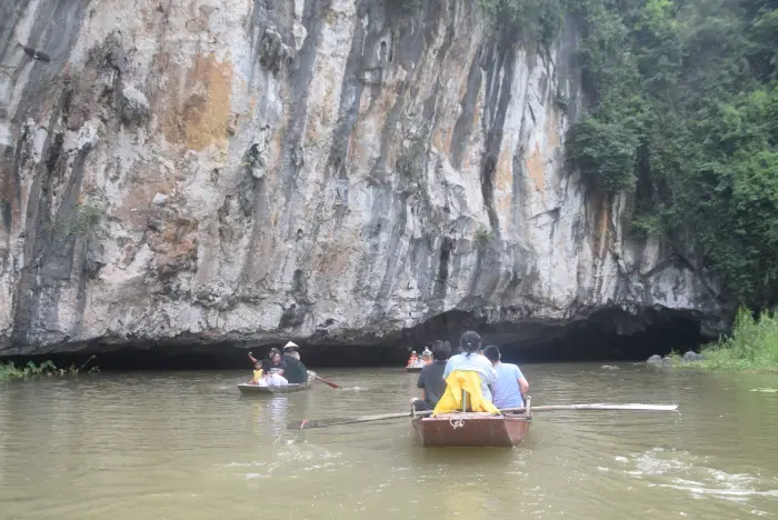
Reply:
[[632, 231], [678, 237], [679, 252], [699, 251], [728, 296], [775, 302], [778, 1], [567, 9], [584, 30], [589, 98], [568, 134], [570, 167], [596, 190], [635, 196]]

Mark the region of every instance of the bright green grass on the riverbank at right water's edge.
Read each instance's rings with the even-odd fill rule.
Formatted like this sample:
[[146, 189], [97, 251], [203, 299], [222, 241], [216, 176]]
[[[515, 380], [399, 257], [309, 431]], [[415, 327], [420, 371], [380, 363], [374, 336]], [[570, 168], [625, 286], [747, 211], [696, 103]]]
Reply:
[[674, 366], [709, 370], [746, 370], [778, 373], [778, 316], [762, 312], [754, 317], [741, 308], [732, 333], [716, 343], [702, 347], [705, 360], [681, 362], [677, 354]]

